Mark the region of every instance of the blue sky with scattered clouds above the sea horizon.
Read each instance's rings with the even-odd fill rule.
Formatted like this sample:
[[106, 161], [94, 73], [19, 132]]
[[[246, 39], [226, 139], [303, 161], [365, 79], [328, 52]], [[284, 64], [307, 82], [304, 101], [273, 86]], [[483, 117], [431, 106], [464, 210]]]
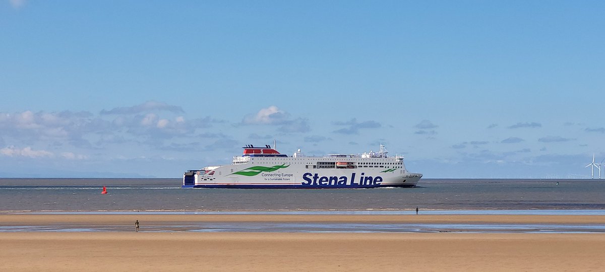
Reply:
[[178, 178], [273, 140], [425, 178], [605, 158], [603, 1], [0, 1], [0, 177]]

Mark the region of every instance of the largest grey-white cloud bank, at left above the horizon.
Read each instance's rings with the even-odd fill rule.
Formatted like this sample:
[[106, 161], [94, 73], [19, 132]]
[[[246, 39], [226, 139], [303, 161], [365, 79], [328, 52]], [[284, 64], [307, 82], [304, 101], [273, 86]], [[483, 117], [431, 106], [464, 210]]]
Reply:
[[[157, 102], [128, 109], [139, 111], [160, 108], [174, 109]], [[213, 136], [215, 138], [227, 138], [224, 134], [209, 129], [214, 123], [226, 121], [212, 117], [187, 118], [174, 112], [142, 112], [132, 115], [99, 115], [85, 111], [36, 112], [31, 109], [0, 112], [0, 157], [85, 160], [90, 158], [79, 153], [95, 154], [97, 157], [97, 154], [103, 154], [114, 147], [135, 148], [137, 145], [153, 146], [152, 149], [156, 149], [160, 145], [169, 146], [173, 141], [191, 141], [189, 138], [197, 137], [200, 133], [212, 132], [216, 135]], [[199, 147], [202, 146], [200, 144]], [[75, 152], [74, 147], [78, 152]]]

